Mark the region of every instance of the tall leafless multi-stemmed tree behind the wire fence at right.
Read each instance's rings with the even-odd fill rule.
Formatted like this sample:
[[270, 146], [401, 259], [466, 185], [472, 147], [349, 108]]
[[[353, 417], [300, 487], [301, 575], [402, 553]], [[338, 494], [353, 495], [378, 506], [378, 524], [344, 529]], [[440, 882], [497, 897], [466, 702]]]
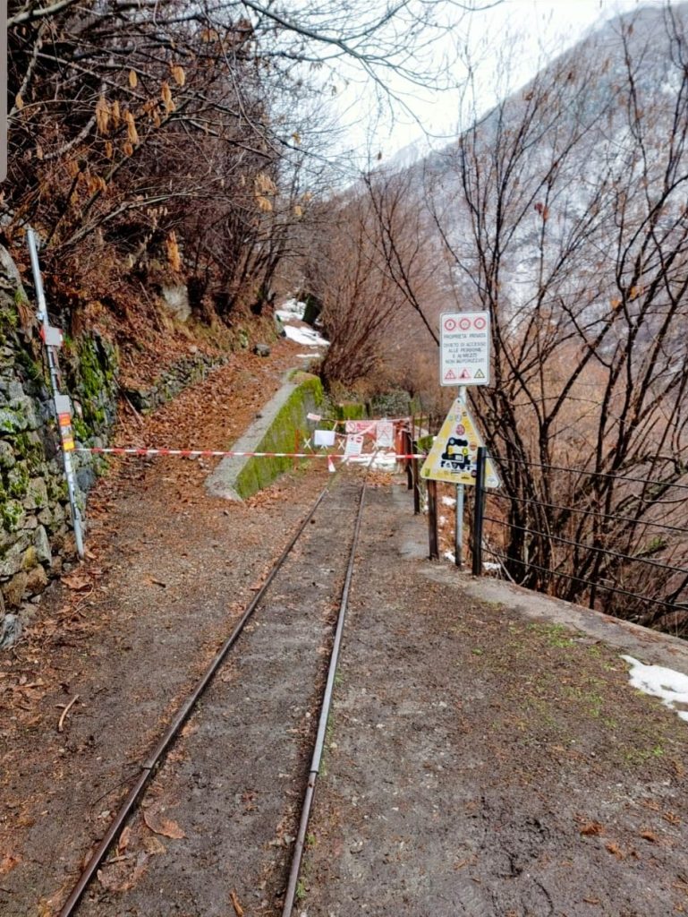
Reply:
[[653, 528], [686, 518], [687, 50], [671, 6], [619, 20], [428, 176], [457, 301], [492, 315], [473, 398], [512, 497], [508, 569], [646, 623], [688, 585], [684, 536]]

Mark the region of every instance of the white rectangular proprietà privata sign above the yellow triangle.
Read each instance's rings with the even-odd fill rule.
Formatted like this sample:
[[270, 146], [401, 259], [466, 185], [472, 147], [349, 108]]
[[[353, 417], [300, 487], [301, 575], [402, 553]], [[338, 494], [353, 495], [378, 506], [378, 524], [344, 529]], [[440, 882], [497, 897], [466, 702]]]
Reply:
[[489, 312], [440, 315], [440, 384], [488, 385], [489, 381]]

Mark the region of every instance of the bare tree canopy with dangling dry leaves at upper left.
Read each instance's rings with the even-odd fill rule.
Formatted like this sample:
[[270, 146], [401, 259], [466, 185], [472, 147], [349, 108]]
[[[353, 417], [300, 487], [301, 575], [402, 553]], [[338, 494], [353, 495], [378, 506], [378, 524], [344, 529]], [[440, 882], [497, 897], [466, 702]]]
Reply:
[[103, 246], [139, 274], [171, 257], [224, 317], [259, 310], [315, 190], [306, 157], [322, 161], [344, 61], [378, 87], [390, 72], [437, 76], [430, 43], [463, 10], [437, 12], [422, 0], [298, 14], [248, 0], [11, 3], [5, 242], [38, 226], [68, 311], [67, 287], [100, 293], [81, 281], [84, 264], [104, 270]]

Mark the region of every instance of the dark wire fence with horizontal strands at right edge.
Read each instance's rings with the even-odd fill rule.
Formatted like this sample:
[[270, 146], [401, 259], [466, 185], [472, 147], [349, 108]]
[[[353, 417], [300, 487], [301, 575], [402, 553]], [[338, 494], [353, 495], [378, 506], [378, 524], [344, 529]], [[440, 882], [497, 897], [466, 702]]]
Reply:
[[[486, 557], [509, 580], [688, 636], [688, 474], [665, 479], [489, 453]], [[477, 514], [475, 514], [477, 516]], [[474, 522], [476, 519], [474, 520]]]

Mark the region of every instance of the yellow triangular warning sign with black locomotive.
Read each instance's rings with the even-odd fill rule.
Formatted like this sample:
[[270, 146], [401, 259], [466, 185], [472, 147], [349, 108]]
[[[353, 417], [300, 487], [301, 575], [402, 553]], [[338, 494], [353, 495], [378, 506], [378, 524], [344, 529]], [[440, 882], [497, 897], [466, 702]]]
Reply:
[[[447, 481], [450, 484], [475, 485], [478, 446], [484, 445], [468, 408], [456, 398], [440, 432], [435, 436], [428, 458], [423, 462], [420, 477], [431, 481]], [[485, 486], [499, 485], [495, 466], [487, 458]]]

